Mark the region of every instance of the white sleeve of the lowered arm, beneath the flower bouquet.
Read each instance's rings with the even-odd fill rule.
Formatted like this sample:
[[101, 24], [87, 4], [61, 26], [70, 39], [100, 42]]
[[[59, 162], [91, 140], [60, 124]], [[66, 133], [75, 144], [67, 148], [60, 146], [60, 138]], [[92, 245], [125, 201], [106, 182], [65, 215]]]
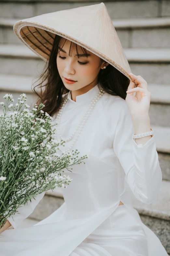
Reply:
[[45, 192], [35, 196], [35, 199], [32, 198], [31, 202], [28, 201], [25, 205], [21, 205], [21, 207], [17, 209], [18, 212], [7, 218], [7, 220], [10, 222], [14, 229], [17, 228], [18, 224], [23, 219], [27, 218], [34, 211], [36, 205], [39, 203], [44, 195]]

